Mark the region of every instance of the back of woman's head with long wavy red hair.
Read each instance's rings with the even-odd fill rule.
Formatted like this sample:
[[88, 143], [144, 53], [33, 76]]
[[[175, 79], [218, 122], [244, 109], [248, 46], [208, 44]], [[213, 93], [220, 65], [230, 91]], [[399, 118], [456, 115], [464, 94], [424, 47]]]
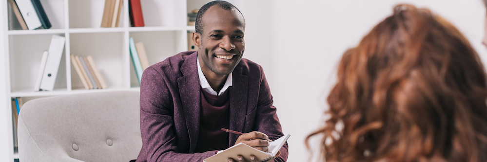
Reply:
[[486, 162], [484, 67], [467, 39], [401, 4], [342, 57], [328, 96], [328, 162]]

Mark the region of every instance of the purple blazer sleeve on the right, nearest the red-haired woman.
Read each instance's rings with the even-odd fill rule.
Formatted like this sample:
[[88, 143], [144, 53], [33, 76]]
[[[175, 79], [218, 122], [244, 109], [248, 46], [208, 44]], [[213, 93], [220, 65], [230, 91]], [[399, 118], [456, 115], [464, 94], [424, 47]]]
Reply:
[[[257, 113], [255, 115], [256, 130], [265, 133], [269, 136], [269, 139], [276, 140], [282, 137], [281, 124], [277, 118], [276, 108], [273, 106], [273, 97], [269, 84], [267, 83], [266, 76], [262, 67], [260, 69], [260, 88], [259, 97], [257, 101]], [[288, 159], [288, 143], [280, 149], [281, 154], [279, 157], [274, 158], [274, 162], [286, 162]]]

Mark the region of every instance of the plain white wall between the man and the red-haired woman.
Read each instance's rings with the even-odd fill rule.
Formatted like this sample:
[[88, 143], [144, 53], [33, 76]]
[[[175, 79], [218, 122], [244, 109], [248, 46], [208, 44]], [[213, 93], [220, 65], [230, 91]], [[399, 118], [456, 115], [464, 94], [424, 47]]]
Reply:
[[[325, 98], [342, 53], [355, 46], [395, 4], [428, 7], [470, 40], [484, 63], [482, 0], [245, 0], [244, 58], [264, 67], [284, 133], [289, 162], [308, 161], [304, 138], [322, 126]], [[239, 6], [237, 6], [239, 7]], [[242, 7], [239, 7], [242, 8]], [[305, 158], [305, 160], [303, 160]]]

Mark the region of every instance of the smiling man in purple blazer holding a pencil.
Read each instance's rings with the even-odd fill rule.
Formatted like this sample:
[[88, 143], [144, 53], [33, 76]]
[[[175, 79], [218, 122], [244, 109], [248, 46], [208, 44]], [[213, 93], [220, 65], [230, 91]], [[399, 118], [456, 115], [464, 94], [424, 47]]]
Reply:
[[[226, 1], [209, 2], [195, 27], [198, 51], [171, 56], [142, 75], [137, 162], [201, 162], [240, 142], [267, 151], [268, 141], [283, 135], [262, 67], [242, 58], [240, 11]], [[287, 155], [285, 144], [273, 161], [285, 162]]]

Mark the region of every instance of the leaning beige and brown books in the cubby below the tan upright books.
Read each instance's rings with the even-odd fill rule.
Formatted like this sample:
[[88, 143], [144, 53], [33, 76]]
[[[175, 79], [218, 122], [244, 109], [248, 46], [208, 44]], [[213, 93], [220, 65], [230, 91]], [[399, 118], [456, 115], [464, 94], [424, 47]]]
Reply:
[[107, 84], [101, 76], [101, 73], [91, 55], [75, 56], [71, 54], [71, 63], [73, 63], [73, 66], [75, 67], [75, 70], [83, 83], [84, 89], [90, 90], [107, 88]]

